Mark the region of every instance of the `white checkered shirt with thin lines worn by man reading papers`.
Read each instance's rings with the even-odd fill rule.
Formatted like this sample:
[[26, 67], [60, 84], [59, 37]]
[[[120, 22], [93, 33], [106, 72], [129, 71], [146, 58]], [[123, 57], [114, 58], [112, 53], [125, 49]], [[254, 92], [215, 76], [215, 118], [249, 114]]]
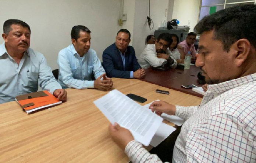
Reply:
[[[176, 106], [185, 119], [173, 162], [256, 162], [256, 74], [209, 85], [199, 107]], [[161, 162], [136, 141], [125, 153], [132, 162]]]

